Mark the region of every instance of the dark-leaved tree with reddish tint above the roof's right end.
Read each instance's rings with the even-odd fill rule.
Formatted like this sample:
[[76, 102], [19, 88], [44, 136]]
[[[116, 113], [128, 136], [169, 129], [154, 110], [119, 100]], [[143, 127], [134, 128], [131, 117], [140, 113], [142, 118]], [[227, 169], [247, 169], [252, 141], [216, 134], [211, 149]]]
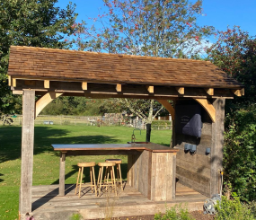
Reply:
[[239, 27], [218, 31], [218, 40], [207, 48], [207, 59], [244, 84], [245, 95], [229, 102], [231, 108], [256, 102], [256, 37]]

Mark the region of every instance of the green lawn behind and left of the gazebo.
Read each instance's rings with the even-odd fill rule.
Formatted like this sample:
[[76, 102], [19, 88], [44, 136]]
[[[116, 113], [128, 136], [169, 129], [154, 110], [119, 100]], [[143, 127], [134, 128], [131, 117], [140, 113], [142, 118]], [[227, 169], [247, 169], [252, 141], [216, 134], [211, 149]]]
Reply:
[[[33, 185], [58, 183], [58, 153], [51, 144], [126, 144], [133, 128], [91, 126], [36, 126], [33, 157]], [[146, 140], [146, 131], [135, 131], [137, 141]], [[152, 130], [151, 142], [170, 145], [172, 131]], [[0, 219], [17, 219], [21, 179], [22, 128], [0, 127]], [[123, 160], [122, 172], [126, 178], [127, 156], [111, 158]], [[31, 158], [32, 159], [32, 158]], [[70, 156], [66, 158], [66, 183], [75, 183], [78, 162], [102, 162], [106, 156]], [[97, 175], [96, 170], [96, 175]], [[86, 178], [88, 181], [88, 179]]]

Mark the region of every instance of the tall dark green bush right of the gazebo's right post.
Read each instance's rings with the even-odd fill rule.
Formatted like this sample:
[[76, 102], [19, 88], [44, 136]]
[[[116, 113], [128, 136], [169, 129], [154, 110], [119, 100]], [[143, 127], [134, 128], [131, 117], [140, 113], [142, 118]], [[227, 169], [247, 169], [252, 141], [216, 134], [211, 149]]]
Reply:
[[242, 201], [256, 199], [256, 108], [234, 110], [225, 119], [225, 188]]

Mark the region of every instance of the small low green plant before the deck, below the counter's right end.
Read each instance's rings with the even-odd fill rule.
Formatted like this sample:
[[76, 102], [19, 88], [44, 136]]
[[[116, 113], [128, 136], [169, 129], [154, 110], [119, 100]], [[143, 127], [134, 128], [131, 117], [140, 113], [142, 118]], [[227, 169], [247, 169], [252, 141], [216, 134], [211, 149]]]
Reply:
[[155, 214], [154, 220], [194, 220], [193, 217], [190, 216], [190, 213], [188, 211], [187, 207], [181, 207], [175, 206], [168, 208], [166, 207], [166, 213], [165, 214]]

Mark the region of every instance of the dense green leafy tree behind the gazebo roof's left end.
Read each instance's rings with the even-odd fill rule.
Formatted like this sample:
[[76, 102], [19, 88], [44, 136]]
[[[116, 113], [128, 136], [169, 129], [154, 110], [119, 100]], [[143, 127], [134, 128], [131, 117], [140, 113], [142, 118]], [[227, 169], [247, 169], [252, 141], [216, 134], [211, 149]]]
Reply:
[[[11, 45], [69, 48], [66, 35], [75, 33], [75, 5], [60, 9], [57, 0], [0, 0], [0, 114], [18, 107], [7, 84], [9, 48]], [[18, 104], [17, 104], [18, 103]]]

